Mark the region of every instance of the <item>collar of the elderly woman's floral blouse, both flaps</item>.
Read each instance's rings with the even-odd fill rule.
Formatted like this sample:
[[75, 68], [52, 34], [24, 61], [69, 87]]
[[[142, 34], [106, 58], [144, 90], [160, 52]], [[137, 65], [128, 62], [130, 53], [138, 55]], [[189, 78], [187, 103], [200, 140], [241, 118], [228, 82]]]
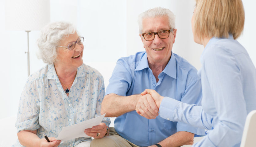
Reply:
[[[85, 77], [85, 66], [79, 66], [77, 68], [77, 73], [76, 73], [76, 77]], [[48, 69], [47, 69], [47, 78], [51, 79], [51, 80], [56, 80], [56, 78], [58, 78], [55, 68], [54, 68], [54, 64], [50, 64], [48, 65]]]

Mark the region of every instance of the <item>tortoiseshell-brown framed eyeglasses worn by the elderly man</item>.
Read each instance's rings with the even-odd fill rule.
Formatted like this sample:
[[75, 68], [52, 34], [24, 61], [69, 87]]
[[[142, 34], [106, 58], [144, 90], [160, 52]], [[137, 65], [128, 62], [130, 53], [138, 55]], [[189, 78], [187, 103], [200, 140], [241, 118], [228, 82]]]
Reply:
[[165, 39], [169, 37], [170, 32], [173, 32], [173, 29], [170, 30], [162, 30], [159, 32], [148, 32], [148, 33], [142, 33], [142, 36], [146, 41], [151, 41], [155, 39], [155, 35], [157, 34], [159, 38]]

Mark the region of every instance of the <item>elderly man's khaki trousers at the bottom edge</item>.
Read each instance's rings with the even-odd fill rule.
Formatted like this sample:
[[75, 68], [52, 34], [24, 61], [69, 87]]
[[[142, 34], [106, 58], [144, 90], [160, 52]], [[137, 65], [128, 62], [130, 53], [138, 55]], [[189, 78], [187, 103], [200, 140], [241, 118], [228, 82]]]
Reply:
[[122, 138], [122, 136], [116, 133], [114, 127], [110, 127], [109, 136], [106, 136], [100, 139], [94, 138], [91, 141], [91, 147], [139, 147], [139, 146]]

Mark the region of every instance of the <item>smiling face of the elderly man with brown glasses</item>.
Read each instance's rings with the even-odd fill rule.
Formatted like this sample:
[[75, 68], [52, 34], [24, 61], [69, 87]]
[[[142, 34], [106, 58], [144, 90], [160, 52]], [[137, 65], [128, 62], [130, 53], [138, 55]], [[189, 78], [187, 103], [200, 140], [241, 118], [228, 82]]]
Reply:
[[[142, 33], [158, 32], [161, 30], [169, 30], [168, 17], [145, 18], [142, 21]], [[176, 29], [170, 32], [169, 37], [165, 39], [155, 35], [155, 39], [146, 41], [140, 34], [142, 43], [147, 53], [149, 63], [167, 63], [172, 54], [173, 43], [175, 42]]]

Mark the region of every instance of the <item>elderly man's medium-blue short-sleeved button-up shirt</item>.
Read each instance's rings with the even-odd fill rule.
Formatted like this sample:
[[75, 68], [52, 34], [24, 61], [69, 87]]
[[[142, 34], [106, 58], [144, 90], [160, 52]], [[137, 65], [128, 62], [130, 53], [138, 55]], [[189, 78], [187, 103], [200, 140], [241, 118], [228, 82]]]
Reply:
[[[197, 70], [180, 56], [172, 53], [165, 69], [156, 79], [149, 68], [146, 52], [138, 52], [130, 57], [120, 58], [109, 80], [106, 95], [119, 96], [140, 94], [145, 89], [155, 89], [163, 96], [174, 97], [188, 104], [201, 104], [201, 80]], [[118, 134], [138, 146], [154, 145], [178, 131], [205, 135], [204, 129], [198, 129], [185, 123], [172, 122], [157, 116], [146, 119], [130, 111], [114, 121]]]

